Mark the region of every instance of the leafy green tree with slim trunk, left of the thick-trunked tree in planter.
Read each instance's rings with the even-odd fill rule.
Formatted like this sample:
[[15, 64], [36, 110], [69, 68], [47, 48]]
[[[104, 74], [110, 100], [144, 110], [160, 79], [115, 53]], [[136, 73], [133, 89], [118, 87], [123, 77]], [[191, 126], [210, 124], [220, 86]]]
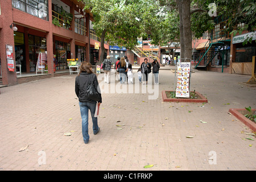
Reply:
[[[132, 49], [137, 39], [147, 35], [156, 15], [153, 3], [142, 0], [81, 0], [84, 9], [90, 9], [94, 15], [93, 28], [101, 38], [99, 64], [104, 59], [104, 41]], [[153, 1], [152, 1], [153, 2]]]

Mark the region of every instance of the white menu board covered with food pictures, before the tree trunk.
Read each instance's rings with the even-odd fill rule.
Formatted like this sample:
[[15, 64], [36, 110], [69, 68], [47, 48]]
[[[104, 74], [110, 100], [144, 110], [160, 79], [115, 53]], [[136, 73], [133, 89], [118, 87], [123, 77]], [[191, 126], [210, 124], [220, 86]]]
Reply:
[[191, 71], [191, 63], [190, 62], [177, 63], [176, 97], [189, 98], [190, 71]]

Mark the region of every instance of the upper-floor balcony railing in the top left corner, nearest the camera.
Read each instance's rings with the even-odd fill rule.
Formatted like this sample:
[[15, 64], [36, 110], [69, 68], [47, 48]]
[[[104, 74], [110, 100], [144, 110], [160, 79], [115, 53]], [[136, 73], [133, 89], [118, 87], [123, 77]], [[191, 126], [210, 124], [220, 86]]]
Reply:
[[12, 0], [15, 9], [48, 21], [47, 0]]

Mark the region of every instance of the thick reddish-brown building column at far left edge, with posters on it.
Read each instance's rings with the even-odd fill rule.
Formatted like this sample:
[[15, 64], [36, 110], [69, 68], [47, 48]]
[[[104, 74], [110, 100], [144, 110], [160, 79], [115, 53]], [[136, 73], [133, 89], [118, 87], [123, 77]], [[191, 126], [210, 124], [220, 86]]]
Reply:
[[13, 22], [13, 11], [11, 0], [0, 0], [1, 3], [1, 18], [2, 18], [2, 29], [0, 30], [0, 54], [1, 54], [1, 68], [2, 68], [2, 82], [3, 85], [15, 85], [17, 84], [16, 72], [10, 72], [7, 67], [6, 59], [6, 45], [13, 46], [13, 59], [14, 59], [14, 70], [15, 67], [15, 46], [14, 46], [14, 31], [10, 28]]

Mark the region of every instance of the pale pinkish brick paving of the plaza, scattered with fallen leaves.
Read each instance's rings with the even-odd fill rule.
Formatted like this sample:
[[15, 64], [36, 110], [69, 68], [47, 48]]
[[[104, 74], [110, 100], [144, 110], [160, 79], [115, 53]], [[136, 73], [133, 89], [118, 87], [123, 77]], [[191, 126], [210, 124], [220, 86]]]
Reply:
[[[143, 89], [135, 75], [133, 85], [123, 85], [126, 93], [118, 81], [104, 84], [103, 74], [98, 76], [101, 130], [93, 135], [89, 117], [88, 144], [76, 75], [1, 88], [0, 170], [255, 170], [256, 143], [245, 139], [252, 131], [228, 114], [230, 108], [256, 107], [256, 89], [240, 84], [250, 76], [195, 70], [191, 90], [208, 103], [163, 102], [162, 90], [174, 89], [174, 76], [160, 69], [160, 84]], [[154, 166], [143, 168], [148, 164]]]

